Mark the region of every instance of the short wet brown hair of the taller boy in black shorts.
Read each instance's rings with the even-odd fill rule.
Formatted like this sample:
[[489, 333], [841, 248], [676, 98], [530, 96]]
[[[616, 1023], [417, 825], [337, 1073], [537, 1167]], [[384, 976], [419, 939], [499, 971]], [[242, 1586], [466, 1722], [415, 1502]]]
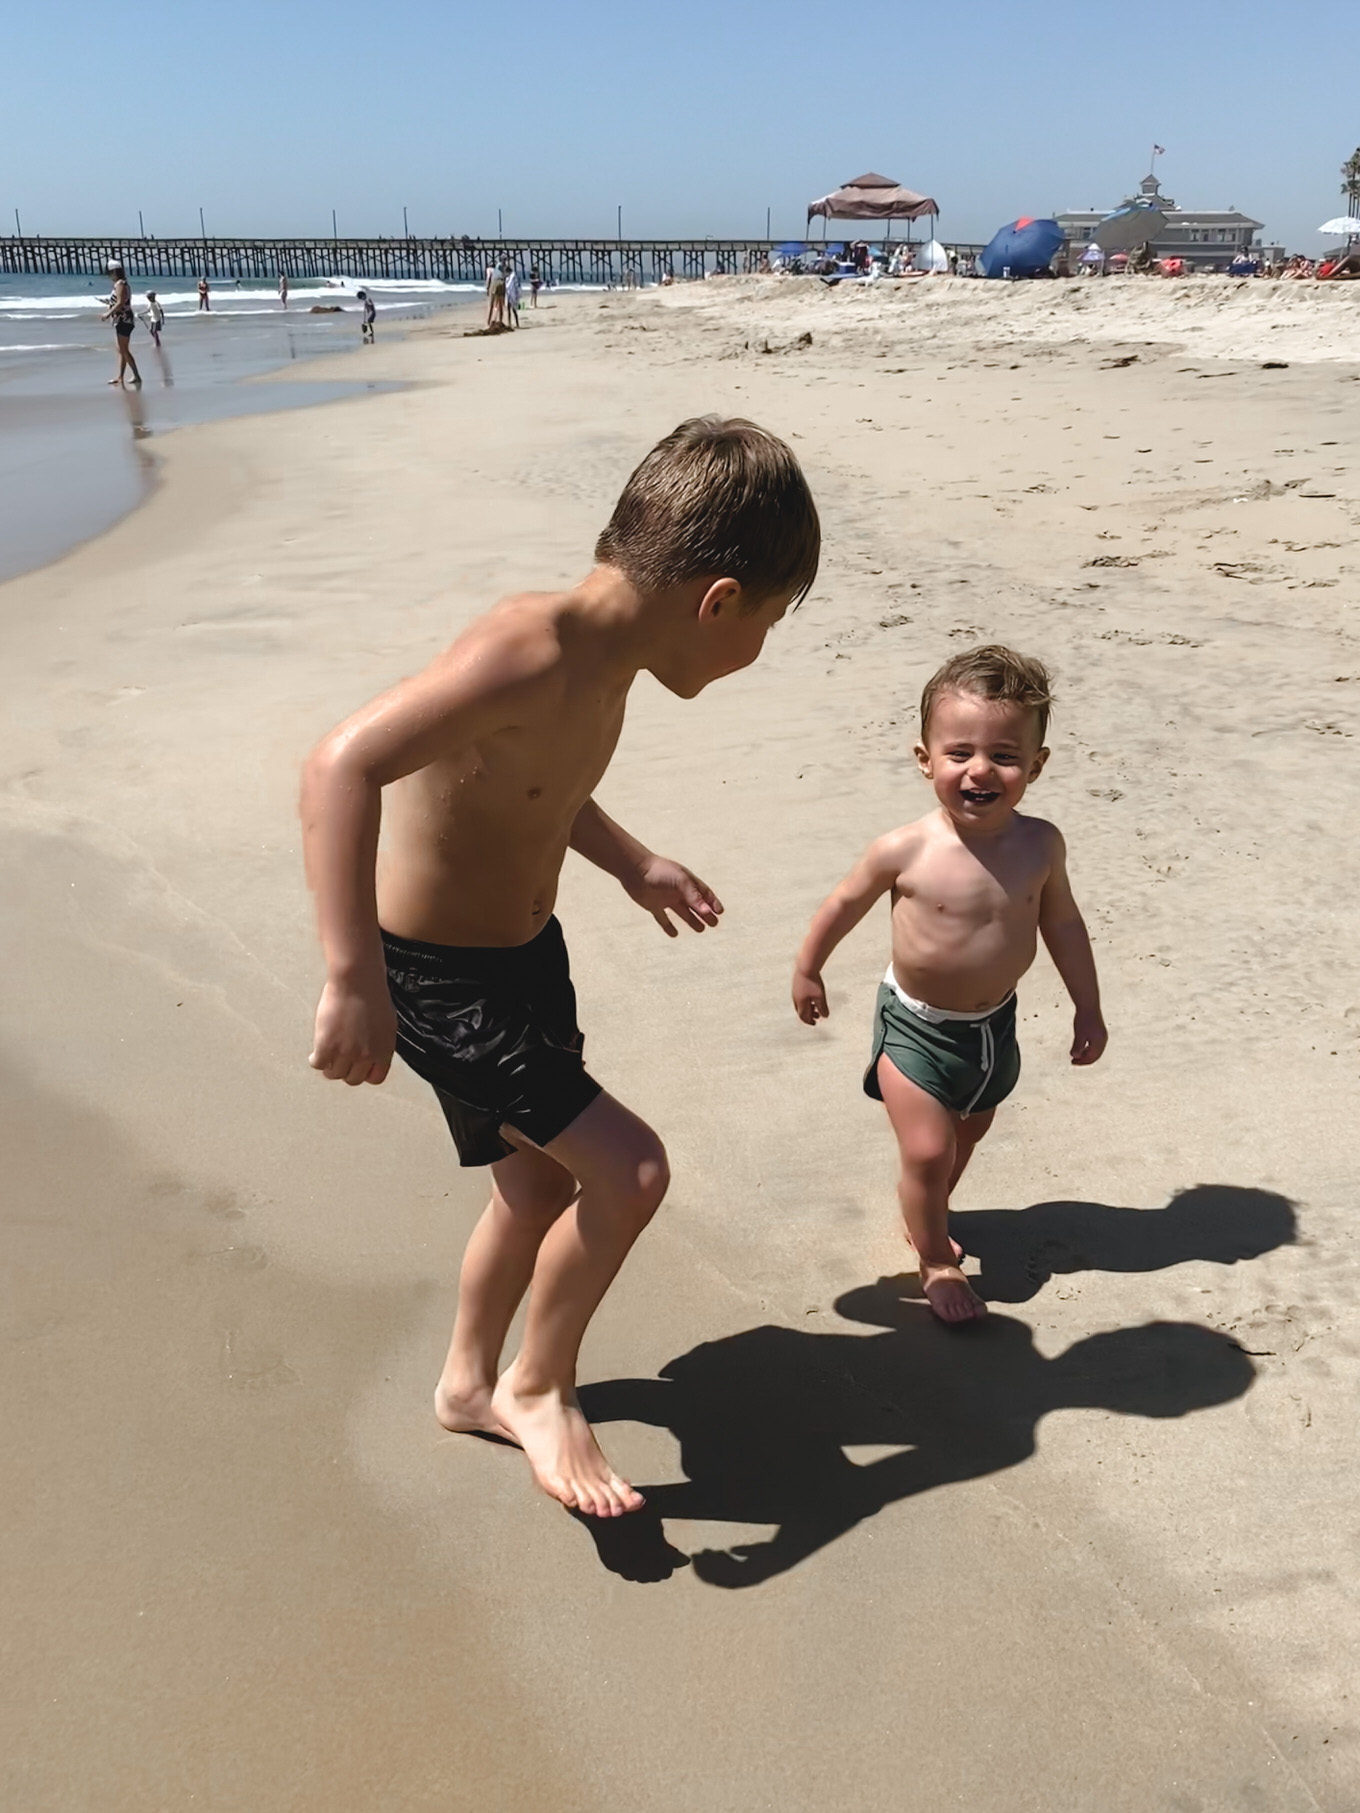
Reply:
[[696, 415], [647, 453], [624, 486], [595, 558], [640, 591], [734, 578], [743, 606], [807, 596], [821, 524], [792, 450], [765, 428]]

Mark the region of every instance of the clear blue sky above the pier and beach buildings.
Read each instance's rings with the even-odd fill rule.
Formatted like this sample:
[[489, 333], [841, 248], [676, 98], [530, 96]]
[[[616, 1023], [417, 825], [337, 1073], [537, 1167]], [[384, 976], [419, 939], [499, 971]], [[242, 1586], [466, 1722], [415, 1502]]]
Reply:
[[[49, 0], [4, 33], [0, 232], [800, 236], [876, 169], [941, 234], [1182, 207], [1320, 245], [1356, 0]], [[2, 225], [4, 218], [11, 227]]]

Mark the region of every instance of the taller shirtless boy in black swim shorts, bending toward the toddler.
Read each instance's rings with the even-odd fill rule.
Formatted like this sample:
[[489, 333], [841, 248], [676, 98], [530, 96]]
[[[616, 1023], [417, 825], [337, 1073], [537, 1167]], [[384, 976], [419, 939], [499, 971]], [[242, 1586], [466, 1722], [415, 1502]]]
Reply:
[[[557, 879], [577, 850], [667, 937], [671, 916], [693, 932], [718, 923], [713, 890], [591, 794], [638, 673], [695, 698], [749, 667], [818, 551], [782, 441], [743, 421], [682, 422], [627, 480], [578, 586], [495, 606], [332, 731], [303, 776], [326, 955], [310, 1062], [383, 1082], [401, 1052], [433, 1084], [461, 1162], [491, 1169], [435, 1414], [511, 1438], [548, 1494], [600, 1517], [642, 1496], [580, 1414], [577, 1352], [667, 1168], [653, 1129], [586, 1070]], [[526, 1291], [524, 1342], [497, 1378]]]

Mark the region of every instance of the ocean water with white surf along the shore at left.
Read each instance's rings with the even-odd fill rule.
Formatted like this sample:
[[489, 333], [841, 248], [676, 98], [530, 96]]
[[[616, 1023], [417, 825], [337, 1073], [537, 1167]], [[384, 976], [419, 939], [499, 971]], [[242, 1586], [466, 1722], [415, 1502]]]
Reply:
[[[132, 509], [154, 477], [156, 435], [363, 392], [361, 377], [267, 381], [355, 346], [357, 290], [374, 297], [379, 337], [433, 310], [481, 306], [473, 285], [334, 277], [292, 285], [287, 310], [272, 285], [219, 281], [201, 314], [192, 285], [161, 283], [161, 346], [138, 319], [132, 357], [143, 383], [120, 390], [107, 383], [118, 364], [112, 326], [100, 321], [107, 277], [0, 277], [0, 580], [54, 560]], [[132, 303], [140, 315], [140, 279]], [[341, 312], [314, 315], [312, 305]]]

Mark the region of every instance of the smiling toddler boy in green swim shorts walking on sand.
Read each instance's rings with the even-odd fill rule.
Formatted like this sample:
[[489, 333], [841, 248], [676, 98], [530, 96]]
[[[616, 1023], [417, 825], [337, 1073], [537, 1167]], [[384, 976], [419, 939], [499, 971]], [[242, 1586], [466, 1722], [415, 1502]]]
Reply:
[[1093, 1064], [1108, 1037], [1063, 836], [1015, 810], [1048, 761], [1050, 705], [1044, 667], [996, 645], [956, 654], [927, 682], [916, 761], [939, 807], [869, 845], [818, 908], [794, 970], [794, 1008], [814, 1026], [831, 1012], [827, 957], [890, 894], [892, 963], [865, 1095], [898, 1135], [901, 1213], [941, 1322], [986, 1309], [959, 1271], [948, 1198], [1019, 1079], [1015, 983], [1039, 937], [1075, 1008], [1072, 1062]]

